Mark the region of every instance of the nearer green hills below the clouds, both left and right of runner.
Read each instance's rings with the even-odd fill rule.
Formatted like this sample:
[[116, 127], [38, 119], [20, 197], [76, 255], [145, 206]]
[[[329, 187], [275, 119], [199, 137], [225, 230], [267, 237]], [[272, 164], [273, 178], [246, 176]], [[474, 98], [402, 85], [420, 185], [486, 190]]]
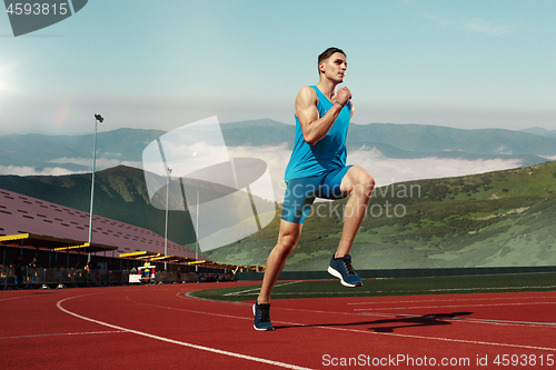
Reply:
[[[149, 202], [141, 170], [99, 171], [95, 213], [163, 234], [165, 211]], [[0, 189], [88, 211], [90, 174], [0, 176]], [[334, 253], [346, 200], [320, 202], [306, 220], [288, 270], [321, 270]], [[265, 264], [277, 217], [261, 231], [203, 252], [222, 263]], [[556, 162], [375, 189], [351, 253], [358, 269], [556, 264]], [[169, 239], [195, 248], [187, 211], [171, 211]], [[188, 246], [189, 244], [189, 246]]]

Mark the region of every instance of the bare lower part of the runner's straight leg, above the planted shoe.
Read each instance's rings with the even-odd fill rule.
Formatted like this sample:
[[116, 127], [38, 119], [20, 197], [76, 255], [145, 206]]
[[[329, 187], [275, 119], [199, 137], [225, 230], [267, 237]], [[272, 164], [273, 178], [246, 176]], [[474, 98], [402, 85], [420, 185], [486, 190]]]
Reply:
[[296, 248], [297, 241], [301, 236], [302, 223], [292, 223], [280, 220], [280, 232], [278, 242], [268, 256], [265, 268], [265, 277], [262, 278], [262, 287], [260, 288], [257, 302], [269, 303], [272, 288], [280, 276], [286, 260], [291, 251]]

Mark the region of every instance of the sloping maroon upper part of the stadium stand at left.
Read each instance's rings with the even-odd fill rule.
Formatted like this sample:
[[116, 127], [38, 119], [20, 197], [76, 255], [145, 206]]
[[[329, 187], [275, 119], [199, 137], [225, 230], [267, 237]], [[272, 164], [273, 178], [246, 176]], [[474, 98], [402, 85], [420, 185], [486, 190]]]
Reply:
[[[70, 248], [81, 252], [113, 251], [112, 257], [138, 251], [165, 253], [163, 237], [95, 214], [92, 243], [83, 246], [89, 239], [89, 217], [88, 212], [0, 189], [0, 237], [3, 237], [0, 241], [59, 251]], [[195, 252], [170, 240], [168, 254], [186, 260], [196, 257]]]

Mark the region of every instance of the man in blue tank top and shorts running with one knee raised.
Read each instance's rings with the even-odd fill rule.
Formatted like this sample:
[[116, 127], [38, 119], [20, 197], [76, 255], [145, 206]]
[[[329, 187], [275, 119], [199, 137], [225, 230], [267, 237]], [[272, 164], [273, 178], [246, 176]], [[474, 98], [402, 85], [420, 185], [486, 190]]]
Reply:
[[360, 287], [349, 251], [367, 210], [375, 180], [361, 167], [346, 166], [346, 138], [354, 113], [351, 92], [339, 88], [346, 76], [346, 53], [329, 48], [318, 57], [320, 81], [304, 87], [296, 99], [296, 142], [285, 180], [287, 183], [278, 242], [268, 257], [262, 287], [252, 310], [256, 330], [274, 330], [270, 293], [301, 236], [315, 199], [349, 196], [344, 229], [328, 272], [346, 287]]

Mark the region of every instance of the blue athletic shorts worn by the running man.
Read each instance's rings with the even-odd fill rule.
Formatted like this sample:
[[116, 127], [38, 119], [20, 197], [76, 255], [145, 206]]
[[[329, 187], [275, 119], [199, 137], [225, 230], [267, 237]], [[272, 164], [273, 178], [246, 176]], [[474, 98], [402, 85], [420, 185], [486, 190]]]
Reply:
[[304, 223], [316, 198], [341, 199], [347, 196], [340, 191], [341, 180], [351, 166], [346, 166], [321, 176], [291, 179], [287, 181], [281, 219]]

